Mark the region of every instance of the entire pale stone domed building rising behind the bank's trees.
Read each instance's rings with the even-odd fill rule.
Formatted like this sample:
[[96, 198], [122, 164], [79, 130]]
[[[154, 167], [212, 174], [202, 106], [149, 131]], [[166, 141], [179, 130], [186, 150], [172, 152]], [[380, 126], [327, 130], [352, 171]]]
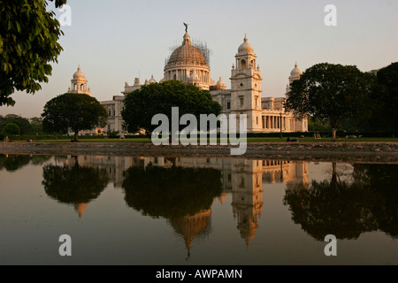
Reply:
[[[295, 119], [292, 112], [284, 107], [285, 100], [290, 91], [290, 84], [294, 80], [300, 79], [302, 71], [295, 64], [295, 68], [288, 77], [288, 84], [285, 97], [262, 97], [262, 76], [260, 66], [256, 64], [257, 56], [253, 46], [249, 43], [245, 35], [243, 42], [234, 56], [235, 63], [231, 68], [231, 88], [226, 89], [226, 83], [219, 78], [217, 82], [210, 77], [209, 53], [207, 48], [191, 42], [191, 37], [186, 33], [179, 47], [172, 51], [172, 55], [166, 59], [164, 77], [159, 82], [166, 80], [180, 80], [185, 83], [210, 91], [212, 99], [220, 103], [222, 113], [226, 117], [234, 114], [237, 118], [239, 128], [239, 118], [246, 115], [247, 131], [250, 133], [291, 133], [307, 132], [307, 119]], [[153, 78], [145, 80], [143, 85], [157, 83]], [[126, 95], [136, 89], [140, 89], [142, 84], [135, 78], [134, 85], [125, 83], [123, 96], [113, 96], [112, 100], [100, 102], [108, 111], [108, 124], [103, 132], [118, 131], [124, 133], [123, 119], [123, 100]], [[81, 73], [73, 74], [72, 88], [70, 92], [86, 93], [90, 95], [87, 88], [87, 80]]]

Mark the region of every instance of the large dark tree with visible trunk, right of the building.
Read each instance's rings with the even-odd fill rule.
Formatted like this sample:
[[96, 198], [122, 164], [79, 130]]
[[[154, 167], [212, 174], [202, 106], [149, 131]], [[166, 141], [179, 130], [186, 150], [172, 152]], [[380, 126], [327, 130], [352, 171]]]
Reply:
[[310, 116], [332, 126], [333, 141], [341, 122], [369, 115], [374, 75], [354, 65], [321, 63], [307, 69], [291, 84], [286, 107], [296, 117]]

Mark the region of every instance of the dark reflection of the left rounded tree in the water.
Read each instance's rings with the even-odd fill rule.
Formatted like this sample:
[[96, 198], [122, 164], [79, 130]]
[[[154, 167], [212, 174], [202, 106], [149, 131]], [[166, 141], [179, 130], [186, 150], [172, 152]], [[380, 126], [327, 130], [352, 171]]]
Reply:
[[42, 172], [42, 185], [47, 195], [59, 203], [73, 204], [80, 212], [96, 199], [109, 183], [105, 169], [80, 166], [61, 167], [45, 165]]

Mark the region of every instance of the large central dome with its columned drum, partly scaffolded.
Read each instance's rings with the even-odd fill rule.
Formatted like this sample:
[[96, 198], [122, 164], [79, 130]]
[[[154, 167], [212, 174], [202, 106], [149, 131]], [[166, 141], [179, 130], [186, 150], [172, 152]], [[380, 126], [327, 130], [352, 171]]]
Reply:
[[180, 80], [209, 90], [214, 85], [210, 78], [210, 66], [199, 48], [192, 45], [188, 31], [182, 45], [172, 52], [165, 65], [165, 80]]

